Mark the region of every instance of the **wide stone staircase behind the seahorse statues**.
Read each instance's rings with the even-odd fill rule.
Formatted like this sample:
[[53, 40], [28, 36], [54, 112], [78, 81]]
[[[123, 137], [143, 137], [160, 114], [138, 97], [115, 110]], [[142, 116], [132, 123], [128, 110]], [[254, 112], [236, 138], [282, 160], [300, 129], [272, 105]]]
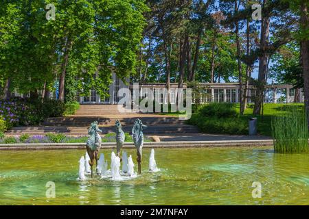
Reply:
[[98, 121], [102, 134], [115, 132], [115, 120], [119, 119], [122, 129], [131, 132], [134, 121], [139, 118], [144, 125], [147, 136], [198, 133], [192, 125], [185, 125], [184, 120], [177, 117], [159, 114], [120, 113], [117, 105], [81, 105], [74, 116], [47, 118], [41, 125], [30, 127], [14, 127], [6, 133], [8, 136], [20, 136], [27, 133], [30, 136], [46, 133], [64, 133], [67, 136], [87, 136], [88, 127], [93, 121]]

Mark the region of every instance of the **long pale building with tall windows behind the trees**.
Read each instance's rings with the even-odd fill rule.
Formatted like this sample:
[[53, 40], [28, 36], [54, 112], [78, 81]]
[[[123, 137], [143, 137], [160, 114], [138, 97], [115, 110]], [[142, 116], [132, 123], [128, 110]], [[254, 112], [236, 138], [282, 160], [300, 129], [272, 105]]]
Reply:
[[[201, 103], [239, 103], [240, 90], [238, 83], [201, 83], [203, 90], [201, 90], [200, 96], [193, 96], [193, 101], [196, 98], [201, 99]], [[109, 87], [110, 96], [101, 99], [95, 90], [90, 90], [89, 96], [76, 96], [76, 101], [81, 104], [117, 104], [122, 97], [118, 96], [120, 88], [129, 88], [131, 94], [133, 94], [133, 83], [124, 83], [113, 74], [113, 83]], [[164, 99], [162, 92], [156, 92], [157, 90], [163, 90], [165, 83], [140, 83], [139, 84], [139, 96], [143, 95], [143, 90], [152, 90], [155, 101], [159, 103], [167, 103], [168, 100]], [[171, 83], [170, 85], [170, 103], [176, 103], [176, 94], [178, 90], [178, 83]], [[184, 84], [183, 88], [187, 88]], [[249, 86], [248, 90], [248, 103], [253, 103], [255, 98], [254, 86]], [[157, 95], [159, 94], [159, 95]], [[292, 85], [280, 84], [280, 85], [267, 85], [264, 91], [264, 103], [293, 103], [295, 99], [295, 89]], [[304, 92], [300, 89], [299, 101], [304, 102]]]

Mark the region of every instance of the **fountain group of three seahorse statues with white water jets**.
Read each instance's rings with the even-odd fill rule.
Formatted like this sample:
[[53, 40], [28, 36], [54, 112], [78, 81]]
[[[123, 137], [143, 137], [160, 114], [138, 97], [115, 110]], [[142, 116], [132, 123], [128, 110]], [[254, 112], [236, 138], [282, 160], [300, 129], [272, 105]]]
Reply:
[[[144, 134], [143, 128], [146, 125], [141, 123], [141, 120], [135, 120], [132, 137], [134, 145], [137, 149], [137, 162], [138, 162], [138, 172], [141, 174], [141, 155], [144, 143]], [[80, 167], [80, 179], [85, 179], [83, 176], [85, 172], [91, 172], [91, 178], [93, 177], [92, 166], [94, 160], [97, 162], [96, 170], [98, 175], [101, 175], [101, 179], [112, 179], [112, 180], [126, 180], [133, 179], [137, 177], [137, 173], [134, 172], [134, 166], [132, 156], [128, 158], [126, 151], [122, 153], [122, 159], [119, 157], [122, 146], [124, 144], [124, 131], [122, 131], [122, 125], [119, 123], [119, 120], [116, 120], [116, 142], [117, 142], [117, 153], [111, 153], [111, 170], [107, 170], [107, 161], [104, 158], [104, 154], [100, 154], [100, 159], [98, 159], [98, 149], [101, 145], [100, 135], [98, 132], [101, 130], [98, 129], [98, 123], [91, 123], [89, 129], [89, 140], [87, 141], [87, 152], [85, 154], [86, 159], [82, 157], [80, 162], [83, 162], [84, 167]], [[122, 162], [122, 172], [120, 172], [120, 163]], [[81, 164], [81, 163], [80, 163]], [[155, 162], [155, 151], [152, 149], [152, 154], [150, 155], [150, 171], [158, 171], [157, 164]]]

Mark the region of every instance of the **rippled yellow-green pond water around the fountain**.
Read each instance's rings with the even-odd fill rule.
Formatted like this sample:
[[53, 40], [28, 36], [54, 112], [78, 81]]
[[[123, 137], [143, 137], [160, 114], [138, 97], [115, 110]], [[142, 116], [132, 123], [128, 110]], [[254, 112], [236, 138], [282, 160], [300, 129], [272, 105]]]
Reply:
[[[136, 158], [135, 151], [127, 150]], [[271, 148], [155, 149], [160, 172], [78, 181], [84, 151], [0, 151], [0, 205], [309, 205], [309, 154]], [[111, 150], [101, 150], [108, 157]], [[136, 163], [136, 162], [135, 162]], [[136, 168], [135, 168], [136, 170]], [[53, 181], [56, 198], [46, 198]], [[262, 197], [252, 197], [252, 183]]]

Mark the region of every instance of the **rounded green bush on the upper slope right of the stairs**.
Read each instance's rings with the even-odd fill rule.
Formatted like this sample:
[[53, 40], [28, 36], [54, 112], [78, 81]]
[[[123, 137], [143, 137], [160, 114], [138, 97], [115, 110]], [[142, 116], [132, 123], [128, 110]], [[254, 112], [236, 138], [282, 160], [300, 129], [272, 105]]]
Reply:
[[203, 105], [200, 108], [199, 112], [203, 116], [213, 117], [216, 116], [218, 118], [231, 118], [238, 117], [238, 112], [233, 109], [232, 103], [209, 103], [207, 105]]

